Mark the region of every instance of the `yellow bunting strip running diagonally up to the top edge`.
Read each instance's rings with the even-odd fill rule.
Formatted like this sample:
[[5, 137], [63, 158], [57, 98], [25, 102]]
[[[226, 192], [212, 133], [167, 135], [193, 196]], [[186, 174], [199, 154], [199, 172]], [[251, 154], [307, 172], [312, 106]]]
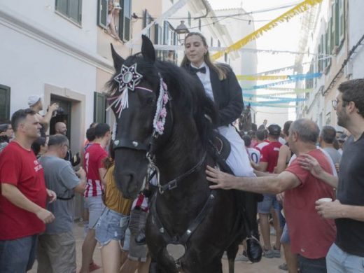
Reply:
[[291, 8], [286, 13], [283, 13], [278, 18], [272, 20], [271, 22], [267, 23], [267, 25], [264, 25], [260, 27], [260, 29], [257, 29], [253, 31], [253, 33], [248, 34], [248, 36], [245, 36], [241, 40], [237, 41], [236, 43], [233, 43], [232, 45], [228, 46], [225, 50], [216, 52], [214, 55], [211, 56], [211, 59], [216, 60], [220, 57], [223, 57], [224, 53], [229, 53], [235, 50], [238, 50], [239, 48], [242, 48], [244, 45], [246, 45], [248, 42], [255, 40], [259, 36], [261, 36], [265, 31], [268, 31], [270, 29], [273, 29], [278, 25], [278, 22], [288, 22], [291, 18], [295, 17], [295, 15], [298, 15], [300, 13], [303, 13], [304, 11], [308, 10], [310, 6], [315, 6], [318, 3], [321, 3], [323, 0], [305, 0], [299, 3], [294, 8]]

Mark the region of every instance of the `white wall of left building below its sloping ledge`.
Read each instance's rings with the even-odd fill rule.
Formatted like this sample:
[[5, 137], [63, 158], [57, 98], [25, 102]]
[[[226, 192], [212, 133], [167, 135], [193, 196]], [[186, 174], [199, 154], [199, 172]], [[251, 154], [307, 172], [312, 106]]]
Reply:
[[29, 94], [44, 94], [44, 84], [86, 95], [86, 124], [93, 119], [96, 69], [79, 59], [0, 25], [0, 83], [11, 88], [10, 114], [27, 107]]

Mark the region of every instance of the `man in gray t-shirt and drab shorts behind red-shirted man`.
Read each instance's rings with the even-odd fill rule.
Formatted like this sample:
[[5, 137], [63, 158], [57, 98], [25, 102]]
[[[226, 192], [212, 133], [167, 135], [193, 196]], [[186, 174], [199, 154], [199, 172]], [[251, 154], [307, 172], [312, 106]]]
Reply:
[[74, 172], [69, 161], [64, 160], [69, 141], [62, 134], [50, 136], [48, 152], [38, 161], [44, 170], [47, 188], [57, 194], [57, 200], [48, 204], [55, 221], [46, 226], [38, 239], [38, 273], [76, 272], [76, 242], [72, 233], [74, 195], [83, 194], [85, 171]]

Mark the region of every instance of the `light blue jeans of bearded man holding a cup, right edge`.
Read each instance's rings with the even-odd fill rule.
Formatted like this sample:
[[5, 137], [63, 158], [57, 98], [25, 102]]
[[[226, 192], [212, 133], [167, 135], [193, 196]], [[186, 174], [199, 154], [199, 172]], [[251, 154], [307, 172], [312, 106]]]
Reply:
[[364, 257], [351, 255], [332, 244], [326, 256], [328, 273], [363, 273]]

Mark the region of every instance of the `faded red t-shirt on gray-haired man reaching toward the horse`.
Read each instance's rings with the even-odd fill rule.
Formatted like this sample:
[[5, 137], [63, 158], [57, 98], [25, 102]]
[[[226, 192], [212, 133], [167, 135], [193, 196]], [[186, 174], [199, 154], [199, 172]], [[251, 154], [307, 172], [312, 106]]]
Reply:
[[[332, 174], [324, 153], [316, 149], [308, 154], [316, 158], [325, 172]], [[334, 200], [334, 189], [302, 169], [297, 159], [286, 172], [293, 173], [301, 182], [300, 186], [286, 190], [283, 200], [292, 252], [309, 259], [323, 258], [335, 241], [336, 227], [332, 219], [318, 215], [315, 202], [324, 197]]]

